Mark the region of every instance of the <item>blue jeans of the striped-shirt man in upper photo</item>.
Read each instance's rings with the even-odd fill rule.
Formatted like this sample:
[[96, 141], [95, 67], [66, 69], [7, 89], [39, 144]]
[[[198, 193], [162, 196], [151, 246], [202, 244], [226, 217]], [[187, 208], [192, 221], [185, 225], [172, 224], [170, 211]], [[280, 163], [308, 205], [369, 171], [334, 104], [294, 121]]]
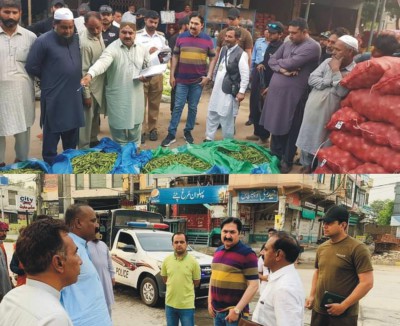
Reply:
[[188, 102], [189, 112], [184, 131], [192, 131], [196, 122], [197, 105], [199, 104], [203, 87], [199, 83], [177, 84], [175, 92], [175, 106], [172, 111], [171, 122], [169, 123], [168, 133], [175, 136], [179, 121], [181, 121], [182, 111]]

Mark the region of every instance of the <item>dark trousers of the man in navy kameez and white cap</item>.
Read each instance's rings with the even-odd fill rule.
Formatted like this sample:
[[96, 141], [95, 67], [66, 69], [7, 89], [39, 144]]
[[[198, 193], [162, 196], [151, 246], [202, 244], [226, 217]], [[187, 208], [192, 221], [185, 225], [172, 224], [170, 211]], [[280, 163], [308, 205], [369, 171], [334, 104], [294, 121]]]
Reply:
[[64, 132], [50, 132], [46, 126], [43, 126], [42, 157], [45, 162], [53, 164], [54, 158], [57, 156], [57, 145], [60, 138], [64, 151], [75, 149], [79, 140], [79, 128]]

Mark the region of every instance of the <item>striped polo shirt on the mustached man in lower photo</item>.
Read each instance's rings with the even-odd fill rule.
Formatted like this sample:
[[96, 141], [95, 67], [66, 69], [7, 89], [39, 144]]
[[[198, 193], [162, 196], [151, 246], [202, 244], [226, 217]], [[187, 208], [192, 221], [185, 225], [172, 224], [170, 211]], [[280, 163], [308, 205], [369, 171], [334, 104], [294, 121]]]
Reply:
[[[236, 306], [247, 288], [247, 281], [258, 280], [258, 260], [255, 252], [239, 241], [234, 247], [221, 246], [211, 265], [211, 298], [216, 311]], [[247, 305], [243, 310], [249, 312]]]

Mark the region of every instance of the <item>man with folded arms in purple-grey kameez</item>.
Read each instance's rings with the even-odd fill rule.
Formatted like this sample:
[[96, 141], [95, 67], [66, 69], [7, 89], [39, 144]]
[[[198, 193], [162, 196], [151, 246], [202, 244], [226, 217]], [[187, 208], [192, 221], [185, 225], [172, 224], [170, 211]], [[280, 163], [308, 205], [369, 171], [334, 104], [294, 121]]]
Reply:
[[317, 67], [320, 45], [308, 34], [307, 22], [289, 23], [290, 41], [270, 58], [274, 71], [261, 113], [260, 125], [271, 137], [271, 152], [281, 160], [281, 173], [288, 173], [296, 154], [296, 140], [308, 96], [308, 77]]

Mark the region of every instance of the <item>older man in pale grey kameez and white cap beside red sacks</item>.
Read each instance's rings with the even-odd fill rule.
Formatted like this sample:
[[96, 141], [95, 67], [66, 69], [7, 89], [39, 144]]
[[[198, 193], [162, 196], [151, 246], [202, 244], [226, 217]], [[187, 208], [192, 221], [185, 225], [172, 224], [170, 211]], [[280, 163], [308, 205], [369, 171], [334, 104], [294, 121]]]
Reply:
[[313, 89], [306, 103], [296, 142], [301, 149], [302, 173], [311, 173], [314, 155], [328, 140], [329, 131], [325, 125], [339, 109], [341, 99], [347, 94], [347, 90], [339, 83], [354, 68], [353, 58], [357, 52], [357, 39], [349, 35], [340, 37], [333, 47], [332, 58], [322, 62], [308, 79], [308, 84]]

